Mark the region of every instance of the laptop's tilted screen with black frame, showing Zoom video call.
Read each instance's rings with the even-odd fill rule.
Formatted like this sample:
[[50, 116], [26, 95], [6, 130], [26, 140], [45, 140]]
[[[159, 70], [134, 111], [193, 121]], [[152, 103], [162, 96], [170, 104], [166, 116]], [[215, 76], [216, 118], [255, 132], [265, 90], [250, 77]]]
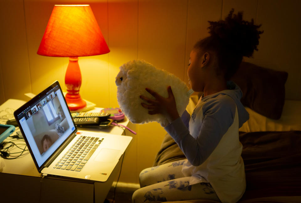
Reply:
[[14, 114], [39, 168], [76, 130], [57, 81]]

